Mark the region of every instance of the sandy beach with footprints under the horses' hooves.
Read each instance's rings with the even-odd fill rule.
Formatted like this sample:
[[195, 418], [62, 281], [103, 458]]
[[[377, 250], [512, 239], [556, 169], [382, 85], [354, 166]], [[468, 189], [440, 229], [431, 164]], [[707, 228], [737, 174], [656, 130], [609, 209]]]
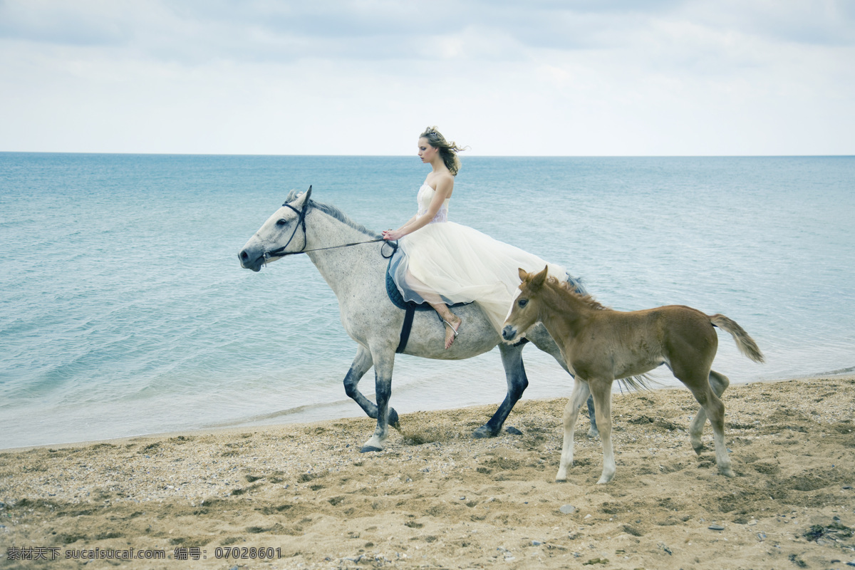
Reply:
[[486, 440], [470, 433], [495, 406], [404, 414], [374, 454], [367, 418], [5, 450], [0, 566], [852, 567], [855, 377], [723, 401], [735, 479], [709, 424], [694, 454], [681, 389], [614, 397], [609, 485], [587, 419], [555, 482], [565, 398], [523, 400], [522, 435]]

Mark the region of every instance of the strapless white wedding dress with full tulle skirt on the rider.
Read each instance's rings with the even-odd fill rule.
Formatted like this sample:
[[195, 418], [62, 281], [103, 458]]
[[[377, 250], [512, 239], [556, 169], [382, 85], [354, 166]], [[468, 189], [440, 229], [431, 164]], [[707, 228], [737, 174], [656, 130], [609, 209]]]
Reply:
[[[427, 184], [419, 188], [419, 215], [428, 211], [434, 192]], [[407, 301], [424, 303], [437, 294], [447, 304], [475, 301], [501, 332], [520, 285], [518, 267], [538, 272], [548, 265], [549, 274], [567, 279], [563, 267], [448, 221], [448, 203], [446, 199], [427, 226], [398, 241], [391, 273]]]

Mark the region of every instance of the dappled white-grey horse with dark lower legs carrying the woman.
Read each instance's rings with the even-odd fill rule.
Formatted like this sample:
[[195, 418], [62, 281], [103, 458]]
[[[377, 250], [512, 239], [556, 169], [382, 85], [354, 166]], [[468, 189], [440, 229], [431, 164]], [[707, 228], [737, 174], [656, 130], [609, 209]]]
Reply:
[[[341, 323], [358, 344], [357, 356], [345, 376], [345, 392], [371, 418], [376, 418], [374, 435], [362, 451], [380, 451], [386, 444], [388, 426], [398, 426], [398, 413], [389, 408], [392, 395], [392, 367], [401, 341], [405, 312], [386, 293], [386, 267], [392, 245], [380, 234], [350, 220], [333, 206], [311, 200], [311, 187], [303, 194], [292, 191], [286, 203], [264, 222], [238, 254], [241, 267], [259, 271], [265, 263], [305, 253], [315, 264], [339, 300]], [[510, 307], [509, 307], [510, 309]], [[502, 342], [499, 333], [478, 307], [471, 303], [456, 307], [466, 322], [465, 334], [444, 350], [445, 326], [431, 311], [416, 312], [403, 354], [445, 360], [460, 360], [492, 350], [498, 344], [508, 393], [492, 418], [475, 430], [475, 438], [498, 435], [522, 392], [528, 386], [522, 366], [525, 343]], [[540, 350], [553, 356], [570, 372], [557, 344], [545, 328], [535, 326], [527, 334]], [[359, 380], [374, 366], [376, 405], [357, 388]], [[632, 380], [630, 379], [630, 384]], [[592, 414], [593, 415], [593, 414]]]

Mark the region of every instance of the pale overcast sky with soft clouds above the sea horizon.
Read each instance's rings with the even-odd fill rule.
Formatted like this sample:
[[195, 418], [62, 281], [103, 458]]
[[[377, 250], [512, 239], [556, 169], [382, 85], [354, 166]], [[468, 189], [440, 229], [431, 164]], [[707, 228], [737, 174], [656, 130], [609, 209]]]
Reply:
[[855, 154], [851, 0], [0, 0], [0, 151]]

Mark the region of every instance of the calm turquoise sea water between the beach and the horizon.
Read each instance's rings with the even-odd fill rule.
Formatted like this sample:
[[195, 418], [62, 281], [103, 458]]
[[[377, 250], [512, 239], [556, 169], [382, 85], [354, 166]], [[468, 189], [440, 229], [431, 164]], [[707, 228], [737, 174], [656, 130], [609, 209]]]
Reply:
[[[341, 385], [356, 344], [310, 260], [252, 273], [237, 253], [309, 185], [398, 226], [427, 172], [416, 157], [0, 153], [0, 448], [361, 415]], [[466, 157], [451, 219], [616, 309], [727, 314], [768, 359], [722, 336], [715, 367], [734, 382], [855, 367], [855, 158]], [[525, 357], [525, 397], [569, 395], [554, 361]], [[498, 351], [396, 360], [399, 412], [502, 397]]]

